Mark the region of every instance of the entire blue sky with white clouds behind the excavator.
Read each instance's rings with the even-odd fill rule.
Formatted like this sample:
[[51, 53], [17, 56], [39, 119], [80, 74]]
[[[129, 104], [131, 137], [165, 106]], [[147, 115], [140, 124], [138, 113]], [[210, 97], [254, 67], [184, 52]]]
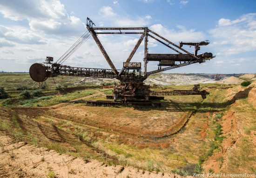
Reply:
[[[256, 73], [255, 7], [256, 0], [0, 0], [0, 71], [28, 71], [46, 56], [56, 61], [87, 31], [89, 17], [96, 26], [148, 26], [176, 44], [210, 40], [200, 52], [215, 59], [169, 73]], [[120, 69], [139, 36], [99, 38]], [[175, 53], [153, 39], [148, 45], [149, 53]], [[132, 61], [142, 59], [143, 44]], [[64, 64], [109, 68], [93, 38]]]

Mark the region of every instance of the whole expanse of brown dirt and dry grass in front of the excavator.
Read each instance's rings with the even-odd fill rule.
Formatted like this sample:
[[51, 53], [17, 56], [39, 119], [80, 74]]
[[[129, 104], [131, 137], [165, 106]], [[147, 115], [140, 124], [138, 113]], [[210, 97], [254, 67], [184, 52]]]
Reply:
[[[104, 96], [100, 91], [50, 107], [0, 107], [1, 128], [18, 134], [0, 132], [0, 177], [180, 178], [171, 172], [189, 170], [209, 152], [213, 122], [225, 138], [205, 159], [204, 171], [256, 170], [255, 82], [216, 87], [207, 99], [166, 97], [156, 109], [75, 102]], [[253, 146], [252, 156], [242, 144]], [[236, 158], [243, 169], [234, 166], [232, 154], [243, 156]]]

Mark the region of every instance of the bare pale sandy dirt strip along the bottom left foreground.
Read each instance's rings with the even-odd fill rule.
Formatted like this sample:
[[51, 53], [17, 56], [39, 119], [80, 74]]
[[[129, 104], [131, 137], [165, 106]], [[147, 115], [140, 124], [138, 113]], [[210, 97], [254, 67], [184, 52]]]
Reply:
[[83, 160], [47, 148], [17, 142], [0, 132], [0, 178], [182, 178], [121, 165], [108, 166], [97, 160]]

